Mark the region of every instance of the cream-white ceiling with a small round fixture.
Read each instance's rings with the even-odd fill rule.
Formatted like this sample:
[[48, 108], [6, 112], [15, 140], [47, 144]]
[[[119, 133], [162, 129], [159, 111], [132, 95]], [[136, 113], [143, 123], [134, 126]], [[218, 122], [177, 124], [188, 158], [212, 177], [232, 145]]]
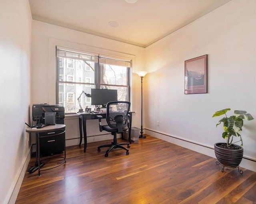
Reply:
[[[29, 0], [33, 20], [147, 47], [230, 0]], [[109, 22], [117, 22], [118, 27]]]

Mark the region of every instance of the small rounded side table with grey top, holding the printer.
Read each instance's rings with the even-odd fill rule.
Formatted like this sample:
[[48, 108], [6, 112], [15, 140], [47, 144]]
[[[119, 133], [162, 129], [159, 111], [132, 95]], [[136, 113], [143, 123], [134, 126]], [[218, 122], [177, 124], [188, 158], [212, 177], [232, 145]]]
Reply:
[[[66, 145], [65, 145], [65, 142], [64, 142], [64, 157], [60, 157], [60, 158], [63, 158], [64, 159], [64, 162], [61, 163], [60, 165], [57, 165], [55, 167], [51, 167], [49, 169], [40, 169], [40, 135], [39, 133], [49, 133], [49, 134], [52, 134], [54, 135], [55, 131], [58, 131], [58, 130], [61, 130], [63, 129], [63, 132], [65, 134], [65, 128], [66, 126], [64, 124], [56, 124], [56, 125], [49, 125], [49, 126], [45, 126], [43, 128], [37, 128], [37, 129], [32, 129], [32, 128], [26, 128], [26, 132], [28, 133], [36, 133], [36, 162], [37, 162], [37, 167], [38, 167], [38, 176], [41, 175], [40, 171], [46, 171], [46, 170], [49, 170], [49, 169], [53, 169], [53, 168], [56, 168], [64, 163], [66, 163]], [[50, 157], [50, 158], [53, 158], [53, 157]], [[46, 158], [48, 159], [48, 158]], [[44, 160], [44, 159], [41, 159], [41, 161]], [[36, 167], [36, 166], [35, 166]], [[37, 168], [35, 169], [37, 170]], [[33, 171], [34, 172], [34, 171]]]

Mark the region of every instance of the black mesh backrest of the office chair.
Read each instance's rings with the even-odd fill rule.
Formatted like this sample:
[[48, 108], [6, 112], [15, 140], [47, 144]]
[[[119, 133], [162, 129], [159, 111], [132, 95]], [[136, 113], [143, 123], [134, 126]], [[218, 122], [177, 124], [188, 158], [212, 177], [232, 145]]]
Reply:
[[110, 128], [117, 129], [117, 133], [122, 133], [123, 128], [127, 127], [130, 106], [131, 103], [128, 101], [107, 103], [106, 121]]

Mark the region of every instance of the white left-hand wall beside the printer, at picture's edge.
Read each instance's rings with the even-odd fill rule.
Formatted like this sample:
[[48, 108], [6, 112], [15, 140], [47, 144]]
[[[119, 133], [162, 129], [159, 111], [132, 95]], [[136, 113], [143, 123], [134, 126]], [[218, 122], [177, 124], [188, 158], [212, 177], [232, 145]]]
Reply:
[[27, 0], [0, 1], [1, 204], [15, 202], [29, 161], [31, 22]]

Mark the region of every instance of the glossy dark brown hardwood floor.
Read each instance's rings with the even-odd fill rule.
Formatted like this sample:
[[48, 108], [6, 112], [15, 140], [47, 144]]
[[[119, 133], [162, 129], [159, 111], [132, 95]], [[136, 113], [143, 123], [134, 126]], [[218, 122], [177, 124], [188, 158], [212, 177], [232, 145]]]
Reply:
[[[221, 168], [216, 159], [147, 136], [122, 149], [110, 141], [67, 147], [67, 163], [26, 173], [16, 204], [255, 204], [256, 173]], [[34, 164], [32, 158], [30, 165]], [[46, 161], [46, 165], [60, 161]]]

